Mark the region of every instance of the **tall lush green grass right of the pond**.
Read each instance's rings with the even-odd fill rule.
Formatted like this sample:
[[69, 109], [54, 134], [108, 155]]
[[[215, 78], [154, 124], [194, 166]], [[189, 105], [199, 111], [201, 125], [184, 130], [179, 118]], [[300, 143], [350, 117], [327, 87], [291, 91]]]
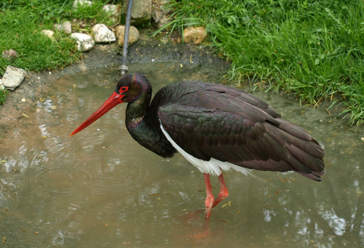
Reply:
[[[302, 103], [340, 103], [364, 124], [364, 2], [179, 0], [171, 29], [204, 25], [232, 65], [229, 79], [283, 90]], [[203, 6], [203, 7], [202, 7]], [[267, 86], [268, 85], [268, 86]]]

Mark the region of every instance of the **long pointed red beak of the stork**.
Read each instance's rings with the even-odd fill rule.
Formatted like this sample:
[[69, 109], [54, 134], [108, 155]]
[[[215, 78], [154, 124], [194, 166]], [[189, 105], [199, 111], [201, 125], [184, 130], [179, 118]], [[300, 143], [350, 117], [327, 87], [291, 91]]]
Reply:
[[119, 103], [123, 103], [121, 100], [124, 97], [122, 94], [118, 94], [116, 92], [112, 93], [112, 95], [101, 105], [101, 107], [95, 111], [90, 117], [87, 118], [87, 120], [84, 121], [78, 128], [76, 128], [73, 133], [71, 133], [70, 136], [78, 133], [82, 129], [88, 127], [91, 123], [93, 123], [95, 120], [99, 119], [101, 116], [103, 116], [107, 111], [114, 108]]

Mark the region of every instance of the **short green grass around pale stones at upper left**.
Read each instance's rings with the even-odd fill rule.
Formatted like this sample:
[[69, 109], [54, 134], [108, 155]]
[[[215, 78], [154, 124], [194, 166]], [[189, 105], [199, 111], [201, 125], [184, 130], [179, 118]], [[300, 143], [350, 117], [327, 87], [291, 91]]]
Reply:
[[[112, 25], [110, 14], [100, 11], [107, 0], [94, 0], [91, 6], [72, 8], [74, 0], [11, 0], [0, 3], [0, 53], [17, 51], [17, 58], [7, 61], [0, 56], [0, 76], [8, 65], [29, 71], [63, 68], [81, 57], [69, 34], [55, 31], [54, 39], [42, 29], [53, 30], [55, 23], [71, 21], [73, 31], [87, 32], [95, 23]], [[72, 21], [76, 19], [77, 21]], [[0, 103], [5, 99], [0, 91]]]

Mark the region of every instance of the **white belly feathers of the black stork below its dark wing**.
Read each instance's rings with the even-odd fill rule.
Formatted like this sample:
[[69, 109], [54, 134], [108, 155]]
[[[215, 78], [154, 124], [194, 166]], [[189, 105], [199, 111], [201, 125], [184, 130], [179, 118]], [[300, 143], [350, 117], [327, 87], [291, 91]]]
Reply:
[[199, 169], [202, 173], [209, 173], [211, 175], [219, 176], [221, 175], [221, 170], [223, 171], [230, 171], [230, 169], [234, 169], [238, 172], [243, 173], [244, 175], [250, 175], [252, 169], [244, 168], [236, 164], [232, 164], [229, 162], [222, 162], [217, 159], [211, 157], [209, 161], [205, 161], [202, 159], [195, 158], [194, 156], [185, 152], [181, 147], [179, 147], [169, 136], [166, 130], [163, 128], [161, 124], [161, 129], [164, 135], [166, 136], [167, 140], [173, 145], [173, 147], [181, 153], [191, 164]]

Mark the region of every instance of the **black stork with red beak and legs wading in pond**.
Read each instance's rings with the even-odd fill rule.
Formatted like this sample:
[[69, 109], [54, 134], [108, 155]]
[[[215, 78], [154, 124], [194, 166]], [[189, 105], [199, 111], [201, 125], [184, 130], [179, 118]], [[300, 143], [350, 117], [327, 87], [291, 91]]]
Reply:
[[[145, 75], [125, 75], [115, 92], [71, 136], [119, 103], [128, 103], [126, 128], [139, 144], [164, 158], [178, 151], [203, 173], [206, 219], [211, 208], [229, 195], [222, 171], [295, 171], [316, 181], [325, 174], [324, 150], [316, 140], [245, 91], [183, 81], [166, 85], [152, 101], [151, 94]], [[210, 174], [219, 177], [217, 199]]]

